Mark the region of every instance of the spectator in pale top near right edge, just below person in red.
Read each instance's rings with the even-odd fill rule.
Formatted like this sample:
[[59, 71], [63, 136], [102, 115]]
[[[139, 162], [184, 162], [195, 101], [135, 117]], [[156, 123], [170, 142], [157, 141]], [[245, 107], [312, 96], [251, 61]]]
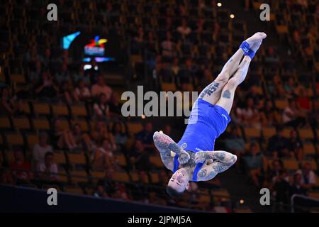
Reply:
[[289, 99], [289, 106], [286, 106], [282, 114], [282, 121], [285, 126], [296, 128], [306, 124], [305, 115], [299, 109], [299, 106], [294, 99]]

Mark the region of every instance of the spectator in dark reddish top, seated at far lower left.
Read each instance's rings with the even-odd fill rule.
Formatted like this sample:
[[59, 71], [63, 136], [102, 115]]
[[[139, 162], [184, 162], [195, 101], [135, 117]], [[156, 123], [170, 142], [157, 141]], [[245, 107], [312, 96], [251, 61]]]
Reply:
[[13, 170], [12, 175], [16, 179], [16, 184], [28, 183], [33, 177], [30, 162], [24, 160], [23, 151], [20, 148], [14, 150], [14, 161], [10, 164], [10, 169]]

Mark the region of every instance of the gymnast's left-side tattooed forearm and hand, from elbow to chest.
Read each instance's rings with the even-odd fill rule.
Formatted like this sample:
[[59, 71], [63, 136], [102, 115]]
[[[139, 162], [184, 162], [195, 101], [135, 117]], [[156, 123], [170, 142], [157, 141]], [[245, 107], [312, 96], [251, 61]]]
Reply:
[[179, 163], [185, 164], [189, 161], [189, 153], [179, 147], [177, 143], [172, 140], [168, 135], [164, 133], [155, 132], [153, 135], [155, 147], [159, 150], [159, 153], [170, 153], [172, 152], [179, 155]]

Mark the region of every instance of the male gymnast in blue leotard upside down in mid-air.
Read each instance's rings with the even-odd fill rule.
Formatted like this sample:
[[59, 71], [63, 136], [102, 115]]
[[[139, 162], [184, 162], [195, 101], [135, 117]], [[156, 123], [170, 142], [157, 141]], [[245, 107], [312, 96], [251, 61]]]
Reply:
[[236, 155], [214, 150], [214, 143], [230, 122], [235, 90], [244, 81], [251, 60], [266, 37], [265, 33], [255, 33], [242, 42], [218, 77], [203, 89], [179, 143], [164, 133], [154, 133], [162, 162], [173, 172], [166, 190], [170, 196], [177, 197], [189, 189], [189, 181], [213, 179], [236, 162]]

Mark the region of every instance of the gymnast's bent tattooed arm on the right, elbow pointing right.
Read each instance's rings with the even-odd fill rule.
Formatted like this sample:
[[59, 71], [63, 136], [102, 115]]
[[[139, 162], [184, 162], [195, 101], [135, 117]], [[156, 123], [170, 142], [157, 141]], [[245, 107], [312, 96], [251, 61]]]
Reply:
[[237, 156], [223, 150], [216, 151], [199, 151], [195, 154], [195, 162], [205, 162], [213, 159], [210, 165], [203, 165], [198, 172], [198, 180], [207, 181], [213, 179], [220, 172], [228, 170], [237, 160]]

